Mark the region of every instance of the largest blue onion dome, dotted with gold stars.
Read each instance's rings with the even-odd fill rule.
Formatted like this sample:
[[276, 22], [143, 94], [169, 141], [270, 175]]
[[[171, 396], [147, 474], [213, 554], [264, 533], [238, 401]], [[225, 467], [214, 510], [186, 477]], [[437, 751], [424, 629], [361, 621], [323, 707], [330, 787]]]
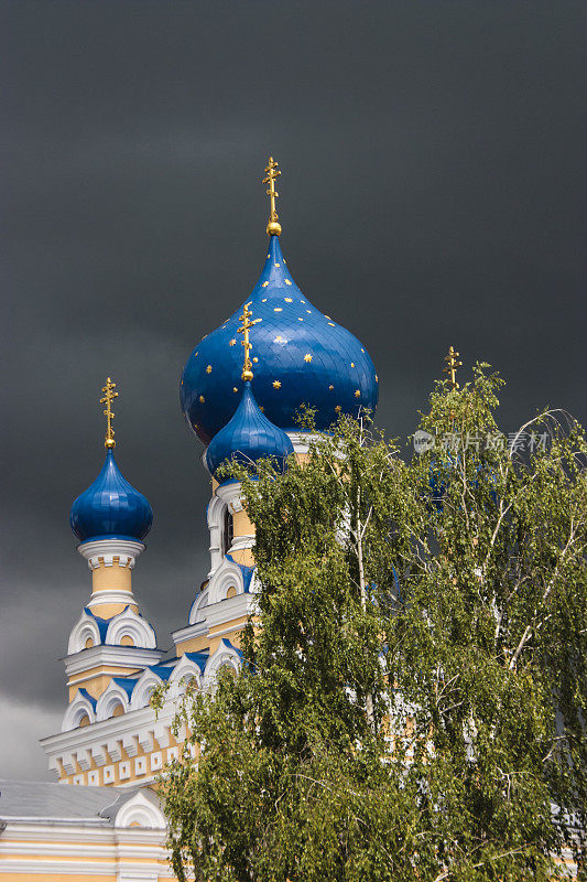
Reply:
[[[361, 343], [329, 315], [323, 315], [291, 277], [276, 235], [269, 241], [263, 271], [251, 295], [254, 395], [265, 417], [296, 430], [302, 405], [316, 410], [316, 428], [327, 429], [340, 412], [373, 411], [378, 377]], [[205, 336], [184, 367], [182, 410], [198, 438], [208, 443], [227, 424], [242, 395], [242, 347], [238, 327], [242, 305]]]

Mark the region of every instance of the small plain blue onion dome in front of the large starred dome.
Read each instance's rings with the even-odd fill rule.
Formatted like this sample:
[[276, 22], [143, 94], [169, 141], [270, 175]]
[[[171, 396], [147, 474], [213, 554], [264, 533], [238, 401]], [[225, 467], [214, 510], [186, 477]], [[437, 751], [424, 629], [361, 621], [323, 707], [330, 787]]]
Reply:
[[205, 453], [206, 466], [214, 475], [226, 460], [251, 467], [263, 456], [276, 460], [276, 467], [285, 470], [285, 460], [293, 453], [293, 444], [283, 429], [268, 420], [254, 400], [251, 384], [244, 389], [235, 416], [213, 438]]

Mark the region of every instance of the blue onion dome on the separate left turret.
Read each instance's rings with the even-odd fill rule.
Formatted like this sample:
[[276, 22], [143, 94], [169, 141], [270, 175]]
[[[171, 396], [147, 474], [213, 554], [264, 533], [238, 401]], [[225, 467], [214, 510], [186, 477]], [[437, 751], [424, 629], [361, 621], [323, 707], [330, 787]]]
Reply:
[[72, 530], [80, 542], [93, 539], [142, 541], [153, 523], [149, 501], [122, 477], [109, 450], [104, 467], [77, 497], [69, 513]]

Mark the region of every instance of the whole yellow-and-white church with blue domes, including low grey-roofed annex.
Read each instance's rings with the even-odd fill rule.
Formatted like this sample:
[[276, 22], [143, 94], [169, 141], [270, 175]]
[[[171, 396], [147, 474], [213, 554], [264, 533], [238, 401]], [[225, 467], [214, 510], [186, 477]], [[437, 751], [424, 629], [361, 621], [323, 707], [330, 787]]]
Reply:
[[[244, 300], [235, 293], [240, 305], [195, 346], [181, 380], [182, 410], [211, 476], [209, 570], [172, 634], [173, 650], [164, 653], [132, 585], [153, 513], [117, 465], [118, 391], [108, 378], [100, 398], [106, 459], [70, 510], [90, 571], [89, 598], [85, 605], [80, 599], [64, 658], [62, 731], [41, 742], [56, 783], [0, 783], [0, 882], [173, 878], [156, 777], [180, 759], [185, 740], [173, 728], [177, 701], [188, 685], [209, 688], [220, 668], [238, 670], [239, 633], [254, 612], [254, 529], [240, 484], [219, 475], [219, 466], [232, 458], [254, 464], [303, 455], [302, 406], [315, 409], [318, 430], [341, 412], [377, 407], [379, 380], [366, 348], [292, 278], [280, 246], [281, 172], [272, 158], [265, 172], [271, 211], [259, 281]], [[155, 714], [150, 699], [162, 685], [165, 700]]]

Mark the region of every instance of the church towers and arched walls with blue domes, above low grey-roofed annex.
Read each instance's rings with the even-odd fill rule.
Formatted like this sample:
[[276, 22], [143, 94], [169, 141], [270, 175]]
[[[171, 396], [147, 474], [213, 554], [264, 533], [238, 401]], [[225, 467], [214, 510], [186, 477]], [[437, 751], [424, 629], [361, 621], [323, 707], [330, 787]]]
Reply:
[[[263, 183], [270, 197], [269, 247], [259, 281], [241, 305], [189, 355], [182, 375], [181, 404], [194, 435], [204, 443], [211, 477], [207, 507], [209, 570], [164, 654], [140, 614], [132, 568], [144, 550], [152, 523], [145, 497], [115, 461], [112, 402], [108, 379], [100, 399], [107, 417], [106, 462], [73, 504], [70, 524], [78, 551], [91, 571], [91, 594], [72, 631], [65, 658], [69, 704], [59, 734], [44, 739], [50, 766], [73, 784], [137, 785], [154, 781], [178, 757], [184, 731], [175, 731], [177, 701], [191, 688], [207, 689], [221, 667], [238, 670], [240, 632], [256, 611], [254, 527], [241, 485], [219, 471], [236, 459], [254, 470], [272, 456], [307, 452], [307, 433], [296, 415], [315, 411], [318, 430], [339, 413], [373, 411], [378, 377], [361, 343], [303, 294], [280, 246], [281, 224], [270, 158]], [[153, 690], [166, 685], [155, 718]]]

